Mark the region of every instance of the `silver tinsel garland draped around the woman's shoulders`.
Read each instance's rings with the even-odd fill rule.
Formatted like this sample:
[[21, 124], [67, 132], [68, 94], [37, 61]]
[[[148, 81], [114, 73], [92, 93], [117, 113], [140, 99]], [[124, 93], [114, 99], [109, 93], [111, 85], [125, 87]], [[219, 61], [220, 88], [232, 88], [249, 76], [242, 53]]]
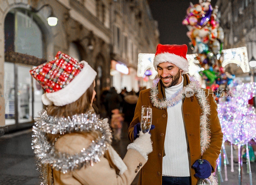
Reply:
[[[46, 134], [64, 135], [72, 132], [92, 131], [99, 131], [101, 136], [92, 141], [89, 147], [74, 155], [55, 151], [54, 143], [49, 143], [46, 137]], [[32, 132], [32, 149], [36, 159], [41, 163], [39, 167], [49, 164], [53, 169], [62, 173], [68, 173], [83, 166], [93, 166], [93, 163], [100, 161], [100, 157], [104, 155], [112, 142], [108, 119], [99, 119], [97, 114], [91, 112], [58, 118], [49, 116], [45, 110], [42, 110], [39, 112], [39, 118], [35, 119]], [[46, 182], [46, 174], [41, 175]]]

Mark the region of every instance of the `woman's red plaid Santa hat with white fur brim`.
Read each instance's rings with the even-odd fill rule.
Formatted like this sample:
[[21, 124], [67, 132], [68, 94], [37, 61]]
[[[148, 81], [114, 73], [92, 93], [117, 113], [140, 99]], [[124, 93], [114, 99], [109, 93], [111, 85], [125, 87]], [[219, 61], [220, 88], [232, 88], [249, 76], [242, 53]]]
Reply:
[[92, 85], [97, 73], [84, 60], [59, 51], [50, 62], [30, 71], [44, 89], [42, 101], [45, 105], [63, 106], [78, 100]]

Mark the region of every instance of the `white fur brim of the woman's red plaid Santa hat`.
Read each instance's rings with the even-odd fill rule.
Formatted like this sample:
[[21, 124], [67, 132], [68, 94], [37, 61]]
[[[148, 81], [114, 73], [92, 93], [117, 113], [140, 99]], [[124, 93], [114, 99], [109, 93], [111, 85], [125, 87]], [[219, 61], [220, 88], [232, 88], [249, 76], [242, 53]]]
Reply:
[[84, 60], [81, 61], [81, 63], [84, 65], [81, 72], [78, 73], [63, 89], [52, 93], [44, 93], [42, 95], [44, 105], [54, 104], [55, 106], [64, 106], [71, 104], [85, 93], [85, 91], [92, 85], [97, 73]]

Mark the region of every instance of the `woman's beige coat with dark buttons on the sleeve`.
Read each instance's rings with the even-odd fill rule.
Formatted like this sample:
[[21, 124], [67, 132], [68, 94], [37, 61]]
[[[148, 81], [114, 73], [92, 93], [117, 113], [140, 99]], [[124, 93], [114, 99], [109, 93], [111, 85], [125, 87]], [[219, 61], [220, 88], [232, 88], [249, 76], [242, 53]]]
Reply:
[[[75, 154], [79, 153], [83, 148], [87, 148], [92, 140], [93, 138], [85, 137], [82, 134], [71, 133], [61, 136], [54, 146], [57, 151]], [[116, 170], [110, 167], [108, 159], [101, 157], [100, 162], [94, 164], [94, 166], [82, 167], [70, 173], [63, 174], [53, 170], [53, 184], [131, 184], [141, 167], [147, 162], [147, 159], [137, 150], [128, 149], [123, 163], [112, 147], [109, 147], [108, 150], [111, 160], [122, 174], [117, 174]]]

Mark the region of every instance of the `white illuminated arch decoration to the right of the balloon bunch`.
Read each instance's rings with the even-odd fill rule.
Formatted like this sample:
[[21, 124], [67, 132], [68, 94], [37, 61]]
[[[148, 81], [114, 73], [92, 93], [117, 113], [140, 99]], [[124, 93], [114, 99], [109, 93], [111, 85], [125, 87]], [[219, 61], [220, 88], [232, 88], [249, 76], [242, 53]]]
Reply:
[[222, 67], [234, 63], [240, 66], [244, 73], [250, 71], [246, 47], [222, 50], [222, 53], [224, 54], [224, 59], [221, 64]]

